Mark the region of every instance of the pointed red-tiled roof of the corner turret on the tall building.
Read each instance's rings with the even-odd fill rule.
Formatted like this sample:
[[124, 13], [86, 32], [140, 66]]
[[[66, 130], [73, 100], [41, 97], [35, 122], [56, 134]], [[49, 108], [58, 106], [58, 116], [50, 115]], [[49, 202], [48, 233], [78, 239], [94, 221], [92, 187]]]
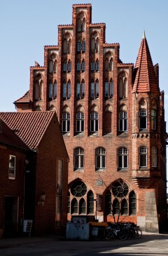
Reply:
[[139, 54], [135, 65], [136, 76], [134, 80], [133, 93], [158, 93], [158, 82], [155, 76], [151, 53], [148, 48], [145, 32], [141, 40]]

